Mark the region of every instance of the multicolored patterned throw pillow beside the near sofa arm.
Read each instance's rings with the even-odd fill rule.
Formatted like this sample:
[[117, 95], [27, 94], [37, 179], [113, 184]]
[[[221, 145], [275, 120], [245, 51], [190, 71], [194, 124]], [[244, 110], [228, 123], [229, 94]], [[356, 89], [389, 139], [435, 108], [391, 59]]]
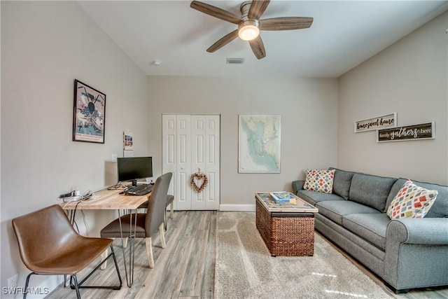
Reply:
[[437, 194], [437, 190], [421, 188], [407, 180], [389, 204], [387, 215], [391, 219], [423, 218], [433, 205]]

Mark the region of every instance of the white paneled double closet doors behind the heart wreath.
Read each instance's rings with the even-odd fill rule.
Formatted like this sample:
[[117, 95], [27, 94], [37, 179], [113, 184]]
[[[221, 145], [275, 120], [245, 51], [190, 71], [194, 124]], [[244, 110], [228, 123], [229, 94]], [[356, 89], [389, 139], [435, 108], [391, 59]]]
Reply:
[[[220, 203], [220, 116], [163, 115], [162, 172], [173, 172], [169, 194], [176, 210], [218, 210]], [[190, 186], [195, 172], [207, 174], [197, 193]]]

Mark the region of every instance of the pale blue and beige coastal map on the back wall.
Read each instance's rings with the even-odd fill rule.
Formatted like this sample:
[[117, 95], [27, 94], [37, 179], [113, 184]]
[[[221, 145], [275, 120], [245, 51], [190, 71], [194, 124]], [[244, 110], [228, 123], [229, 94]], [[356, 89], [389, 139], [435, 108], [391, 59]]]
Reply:
[[239, 115], [238, 172], [280, 173], [280, 116]]

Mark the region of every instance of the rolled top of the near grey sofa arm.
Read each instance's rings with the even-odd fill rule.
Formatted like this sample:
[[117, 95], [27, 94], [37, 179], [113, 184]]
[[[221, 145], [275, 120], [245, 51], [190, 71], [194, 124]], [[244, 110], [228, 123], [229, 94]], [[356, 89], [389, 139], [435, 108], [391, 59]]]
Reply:
[[448, 218], [402, 218], [387, 226], [386, 240], [405, 244], [448, 245]]

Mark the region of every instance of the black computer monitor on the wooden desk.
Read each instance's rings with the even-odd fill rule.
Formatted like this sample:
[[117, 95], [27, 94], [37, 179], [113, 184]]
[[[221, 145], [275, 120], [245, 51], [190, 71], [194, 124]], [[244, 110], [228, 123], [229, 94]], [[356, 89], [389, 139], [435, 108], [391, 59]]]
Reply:
[[117, 168], [118, 182], [132, 181], [132, 186], [137, 186], [138, 179], [153, 177], [153, 158], [117, 158]]

